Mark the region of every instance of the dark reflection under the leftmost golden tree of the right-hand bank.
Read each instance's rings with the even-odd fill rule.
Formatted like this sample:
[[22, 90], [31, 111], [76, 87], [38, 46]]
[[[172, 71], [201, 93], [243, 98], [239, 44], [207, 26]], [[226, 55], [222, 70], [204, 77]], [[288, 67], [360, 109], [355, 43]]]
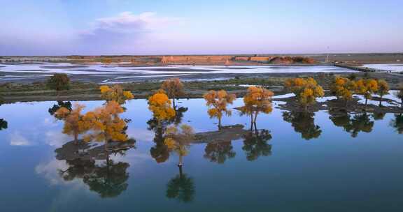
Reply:
[[313, 116], [313, 112], [283, 112], [284, 121], [291, 123], [295, 132], [300, 132], [306, 140], [318, 138], [322, 133]]

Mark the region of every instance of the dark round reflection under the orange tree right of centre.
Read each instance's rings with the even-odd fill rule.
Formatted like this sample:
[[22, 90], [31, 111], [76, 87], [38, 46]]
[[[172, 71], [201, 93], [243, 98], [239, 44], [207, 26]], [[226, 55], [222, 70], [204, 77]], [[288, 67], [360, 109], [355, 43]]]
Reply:
[[270, 156], [271, 144], [267, 144], [270, 139], [269, 130], [250, 131], [243, 140], [242, 149], [246, 153], [246, 159], [256, 160], [260, 156]]

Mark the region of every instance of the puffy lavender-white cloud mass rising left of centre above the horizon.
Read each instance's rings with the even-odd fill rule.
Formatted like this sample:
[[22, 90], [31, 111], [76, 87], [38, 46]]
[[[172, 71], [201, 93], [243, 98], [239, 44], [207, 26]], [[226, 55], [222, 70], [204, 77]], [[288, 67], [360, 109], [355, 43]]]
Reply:
[[80, 33], [79, 51], [89, 54], [136, 53], [143, 45], [168, 33], [169, 26], [178, 22], [181, 19], [160, 17], [150, 12], [139, 15], [124, 12], [114, 17], [99, 18], [92, 23], [91, 29]]

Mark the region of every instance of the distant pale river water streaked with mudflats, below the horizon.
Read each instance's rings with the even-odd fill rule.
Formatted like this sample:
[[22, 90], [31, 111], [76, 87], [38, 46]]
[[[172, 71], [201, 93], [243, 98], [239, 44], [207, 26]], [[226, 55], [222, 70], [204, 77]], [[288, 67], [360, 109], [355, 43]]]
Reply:
[[[143, 81], [180, 77], [183, 80], [229, 79], [278, 73], [351, 73], [334, 66], [132, 66], [120, 64], [80, 65], [72, 63], [4, 63], [0, 64], [0, 82], [34, 82], [54, 73], [66, 73], [72, 79], [100, 83]], [[1, 75], [3, 74], [3, 75]]]

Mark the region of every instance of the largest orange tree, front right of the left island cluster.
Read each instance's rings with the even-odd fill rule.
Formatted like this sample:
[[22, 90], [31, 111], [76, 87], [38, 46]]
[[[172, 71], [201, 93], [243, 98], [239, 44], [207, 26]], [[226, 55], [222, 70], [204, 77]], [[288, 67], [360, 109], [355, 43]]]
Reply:
[[105, 142], [106, 150], [108, 142], [126, 142], [126, 122], [119, 117], [122, 112], [124, 112], [123, 108], [115, 101], [87, 112], [83, 119], [90, 126], [92, 133], [85, 136], [85, 141]]

